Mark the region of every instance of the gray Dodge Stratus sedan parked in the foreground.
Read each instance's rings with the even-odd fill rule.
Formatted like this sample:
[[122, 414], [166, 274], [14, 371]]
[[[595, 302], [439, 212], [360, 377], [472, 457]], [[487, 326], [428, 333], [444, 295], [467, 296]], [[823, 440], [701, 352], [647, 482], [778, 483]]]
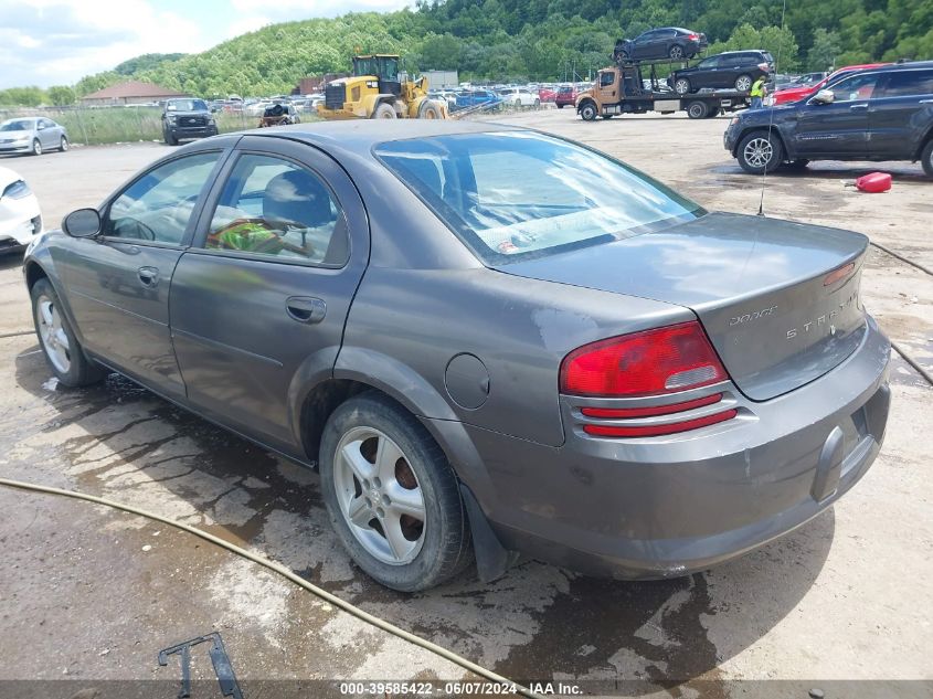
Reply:
[[702, 570], [851, 488], [884, 435], [868, 240], [711, 213], [536, 131], [204, 139], [30, 245], [67, 386], [114, 370], [321, 475], [384, 585], [519, 554]]

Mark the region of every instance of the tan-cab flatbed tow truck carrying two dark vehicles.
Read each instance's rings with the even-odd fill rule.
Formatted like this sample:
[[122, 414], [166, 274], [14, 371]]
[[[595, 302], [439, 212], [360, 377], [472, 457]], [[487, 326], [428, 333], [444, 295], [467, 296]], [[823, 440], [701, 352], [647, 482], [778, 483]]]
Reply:
[[[661, 89], [657, 63], [621, 62], [618, 65], [603, 68], [593, 87], [576, 97], [576, 113], [587, 121], [598, 117], [611, 119], [621, 114], [647, 112], [686, 112], [691, 119], [706, 119], [749, 106], [749, 93], [738, 89], [701, 91], [688, 95]], [[650, 65], [651, 68], [647, 80], [642, 73], [643, 65]]]

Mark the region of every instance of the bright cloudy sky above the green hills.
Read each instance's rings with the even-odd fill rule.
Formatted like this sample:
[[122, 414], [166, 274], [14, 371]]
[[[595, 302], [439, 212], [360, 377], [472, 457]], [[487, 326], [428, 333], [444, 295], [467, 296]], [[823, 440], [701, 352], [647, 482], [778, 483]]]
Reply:
[[414, 0], [0, 0], [0, 89], [71, 85], [142, 53], [194, 53], [265, 24]]

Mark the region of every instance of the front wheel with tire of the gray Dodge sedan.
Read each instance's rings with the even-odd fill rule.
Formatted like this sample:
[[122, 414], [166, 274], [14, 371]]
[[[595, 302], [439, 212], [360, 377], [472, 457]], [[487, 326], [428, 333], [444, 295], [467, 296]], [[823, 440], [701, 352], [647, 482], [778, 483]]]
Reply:
[[59, 381], [68, 388], [100, 381], [106, 371], [85, 357], [71, 324], [62, 313], [59, 295], [49, 279], [40, 279], [30, 289], [32, 320], [45, 361]]

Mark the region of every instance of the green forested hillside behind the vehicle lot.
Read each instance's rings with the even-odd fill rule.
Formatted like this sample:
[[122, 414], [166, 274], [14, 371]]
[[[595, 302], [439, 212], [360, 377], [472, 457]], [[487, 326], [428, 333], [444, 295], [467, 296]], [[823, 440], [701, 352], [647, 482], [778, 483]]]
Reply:
[[788, 0], [783, 31], [782, 0], [422, 0], [413, 10], [275, 24], [176, 60], [140, 56], [83, 78], [75, 93], [131, 75], [203, 96], [269, 95], [348, 70], [356, 50], [397, 52], [409, 70], [456, 68], [462, 80], [563, 80], [573, 67], [585, 77], [606, 64], [616, 38], [671, 24], [706, 32], [711, 52], [780, 53], [781, 72], [933, 59], [933, 0]]

